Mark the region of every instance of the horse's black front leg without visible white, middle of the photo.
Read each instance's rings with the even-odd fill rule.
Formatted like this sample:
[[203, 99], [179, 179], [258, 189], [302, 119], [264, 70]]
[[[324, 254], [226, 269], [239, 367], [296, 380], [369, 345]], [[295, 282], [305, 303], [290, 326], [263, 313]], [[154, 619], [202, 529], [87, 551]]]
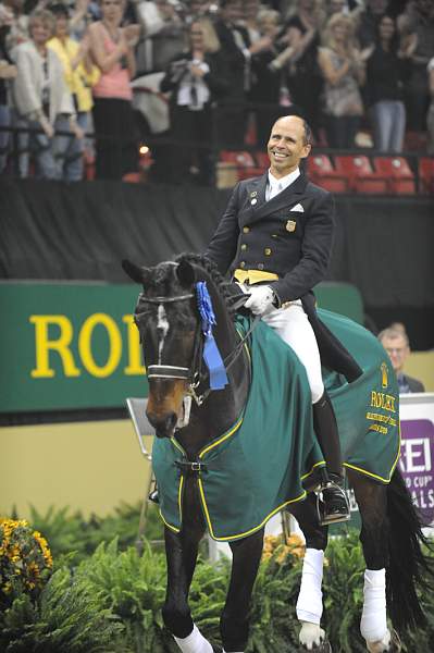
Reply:
[[233, 555], [230, 589], [220, 619], [224, 653], [243, 653], [249, 637], [251, 591], [258, 574], [264, 529], [231, 542]]

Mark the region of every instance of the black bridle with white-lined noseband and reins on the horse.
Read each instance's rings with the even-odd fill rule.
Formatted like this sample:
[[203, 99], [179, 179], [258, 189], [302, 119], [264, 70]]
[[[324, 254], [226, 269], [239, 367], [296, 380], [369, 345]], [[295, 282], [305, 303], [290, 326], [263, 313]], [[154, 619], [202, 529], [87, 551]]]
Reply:
[[[172, 297], [145, 297], [141, 296], [140, 300], [147, 304], [173, 304], [175, 301], [185, 301], [186, 299], [193, 299], [196, 297], [194, 293], [188, 293], [186, 295], [175, 295]], [[246, 295], [236, 297], [236, 300], [233, 303], [233, 308], [239, 308], [246, 301]], [[145, 312], [135, 313], [134, 321], [139, 328], [140, 317], [146, 315]], [[257, 316], [253, 320], [251, 328], [247, 331], [245, 336], [236, 344], [234, 349], [230, 352], [230, 354], [224, 358], [223, 364], [227, 370], [233, 366], [235, 360], [238, 358], [241, 353], [243, 346], [253, 329], [257, 326], [259, 322], [259, 316]], [[195, 399], [198, 406], [201, 406], [208, 395], [211, 393], [211, 389], [208, 387], [203, 391], [202, 394], [198, 394], [199, 385], [204, 381], [207, 373], [203, 373], [202, 366], [202, 353], [203, 353], [203, 337], [201, 333], [200, 321], [198, 321], [196, 333], [195, 333], [195, 345], [191, 357], [191, 365], [189, 368], [179, 367], [174, 365], [150, 365], [147, 367], [147, 375], [148, 379], [182, 379], [184, 381], [188, 381], [188, 394]]]

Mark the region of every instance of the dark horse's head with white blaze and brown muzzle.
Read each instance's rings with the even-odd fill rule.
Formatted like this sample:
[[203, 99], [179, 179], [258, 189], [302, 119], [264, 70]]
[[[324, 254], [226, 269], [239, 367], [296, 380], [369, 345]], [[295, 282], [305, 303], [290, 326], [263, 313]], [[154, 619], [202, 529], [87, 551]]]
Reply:
[[181, 261], [139, 268], [126, 260], [122, 267], [144, 286], [135, 321], [149, 380], [147, 416], [158, 436], [171, 438], [178, 420], [185, 418], [185, 397], [199, 336], [195, 267]]

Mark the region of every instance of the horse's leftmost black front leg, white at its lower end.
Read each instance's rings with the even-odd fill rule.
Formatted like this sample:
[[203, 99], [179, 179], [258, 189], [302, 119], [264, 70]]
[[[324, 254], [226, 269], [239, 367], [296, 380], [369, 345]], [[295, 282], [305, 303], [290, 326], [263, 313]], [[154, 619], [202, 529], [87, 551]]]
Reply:
[[188, 605], [188, 591], [202, 534], [201, 528], [181, 533], [166, 528], [164, 532], [168, 589], [162, 614], [164, 625], [183, 653], [213, 653], [211, 644], [195, 626]]

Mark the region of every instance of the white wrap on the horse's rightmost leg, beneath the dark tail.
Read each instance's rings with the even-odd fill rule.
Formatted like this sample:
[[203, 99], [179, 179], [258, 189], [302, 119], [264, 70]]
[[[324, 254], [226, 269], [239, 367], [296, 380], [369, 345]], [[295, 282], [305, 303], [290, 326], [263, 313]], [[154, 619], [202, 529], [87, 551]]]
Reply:
[[364, 571], [363, 594], [360, 632], [367, 642], [377, 642], [387, 633], [385, 569]]

